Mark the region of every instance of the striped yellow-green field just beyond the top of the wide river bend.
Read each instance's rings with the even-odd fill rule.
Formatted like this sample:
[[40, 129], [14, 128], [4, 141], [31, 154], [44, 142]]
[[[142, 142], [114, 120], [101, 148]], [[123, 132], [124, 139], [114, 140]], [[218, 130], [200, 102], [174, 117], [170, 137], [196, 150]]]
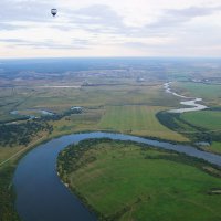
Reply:
[[103, 115], [99, 127], [139, 136], [187, 141], [185, 137], [162, 126], [156, 114], [164, 107], [154, 106], [109, 106]]

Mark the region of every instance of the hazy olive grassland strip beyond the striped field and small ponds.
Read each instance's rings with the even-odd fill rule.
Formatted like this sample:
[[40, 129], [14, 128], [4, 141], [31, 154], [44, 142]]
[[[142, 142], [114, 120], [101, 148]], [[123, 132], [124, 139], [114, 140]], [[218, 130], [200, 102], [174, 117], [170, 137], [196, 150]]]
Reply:
[[[112, 106], [112, 105], [154, 105], [168, 106], [175, 101], [164, 93], [161, 85], [138, 86], [91, 86], [82, 88], [11, 88], [1, 90], [0, 120], [11, 119], [14, 109], [23, 112], [29, 108], [48, 109], [55, 113], [66, 110], [71, 106]], [[165, 101], [168, 99], [167, 102]]]

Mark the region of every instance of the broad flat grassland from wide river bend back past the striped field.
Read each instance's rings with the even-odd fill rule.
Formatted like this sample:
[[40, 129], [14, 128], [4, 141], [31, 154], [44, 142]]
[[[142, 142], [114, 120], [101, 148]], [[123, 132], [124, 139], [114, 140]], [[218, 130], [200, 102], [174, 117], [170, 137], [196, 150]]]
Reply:
[[[114, 130], [160, 139], [188, 141], [186, 137], [159, 124], [157, 112], [179, 104], [177, 97], [166, 94], [158, 85], [88, 86], [82, 88], [17, 88], [2, 97], [0, 120], [15, 115], [11, 110], [30, 114], [32, 109], [46, 109], [61, 114], [72, 106], [83, 106], [82, 115], [72, 115], [51, 122], [53, 135], [82, 130]], [[7, 96], [8, 95], [8, 96]], [[8, 97], [6, 99], [6, 97]], [[33, 110], [32, 110], [33, 112]], [[32, 113], [31, 112], [31, 113]], [[33, 113], [32, 113], [33, 114]], [[38, 114], [39, 115], [39, 114]]]

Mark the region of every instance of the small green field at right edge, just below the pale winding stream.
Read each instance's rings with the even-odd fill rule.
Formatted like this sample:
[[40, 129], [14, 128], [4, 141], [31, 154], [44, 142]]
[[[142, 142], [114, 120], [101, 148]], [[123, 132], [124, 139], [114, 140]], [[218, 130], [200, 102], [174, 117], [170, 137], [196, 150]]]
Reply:
[[221, 112], [189, 112], [181, 114], [181, 118], [208, 130], [221, 130]]

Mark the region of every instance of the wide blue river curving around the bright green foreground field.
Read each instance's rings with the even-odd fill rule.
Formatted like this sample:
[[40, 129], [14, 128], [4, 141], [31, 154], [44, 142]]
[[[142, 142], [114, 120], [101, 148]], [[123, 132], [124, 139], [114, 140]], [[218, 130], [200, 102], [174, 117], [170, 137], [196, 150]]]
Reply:
[[13, 185], [17, 192], [15, 207], [23, 221], [93, 221], [82, 202], [70, 192], [56, 175], [56, 157], [67, 145], [87, 138], [133, 140], [159, 148], [176, 150], [204, 159], [221, 167], [221, 156], [198, 150], [190, 146], [173, 145], [136, 136], [108, 133], [85, 133], [55, 138], [31, 150], [15, 170]]

